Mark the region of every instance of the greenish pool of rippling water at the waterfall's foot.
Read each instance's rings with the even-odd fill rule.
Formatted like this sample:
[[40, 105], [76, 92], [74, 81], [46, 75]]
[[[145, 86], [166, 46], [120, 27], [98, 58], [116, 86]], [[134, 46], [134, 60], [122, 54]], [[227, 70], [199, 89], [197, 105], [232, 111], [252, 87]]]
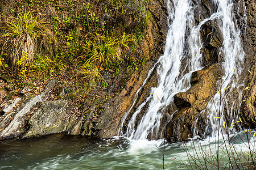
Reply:
[[[201, 166], [198, 160], [204, 160], [201, 149], [214, 158], [216, 142], [214, 139], [195, 141], [170, 144], [163, 139], [133, 141], [122, 137], [98, 139], [65, 134], [9, 139], [0, 141], [0, 169], [163, 169], [163, 151], [165, 169], [198, 169], [195, 164]], [[220, 163], [227, 164], [221, 142]], [[239, 151], [248, 152], [241, 139], [237, 138], [235, 143]], [[196, 161], [188, 156], [190, 154]], [[211, 166], [208, 163], [208, 168]]]

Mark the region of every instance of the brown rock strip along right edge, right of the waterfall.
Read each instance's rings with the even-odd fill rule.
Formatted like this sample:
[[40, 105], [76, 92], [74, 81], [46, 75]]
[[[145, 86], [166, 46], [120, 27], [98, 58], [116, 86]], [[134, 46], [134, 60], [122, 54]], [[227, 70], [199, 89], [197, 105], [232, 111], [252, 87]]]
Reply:
[[[245, 66], [241, 77], [245, 78], [243, 102], [241, 106], [242, 126], [255, 129], [256, 124], [256, 2], [254, 0], [238, 1], [235, 5], [238, 27], [242, 31]], [[244, 12], [246, 11], [246, 13]], [[247, 87], [247, 88], [246, 88]]]

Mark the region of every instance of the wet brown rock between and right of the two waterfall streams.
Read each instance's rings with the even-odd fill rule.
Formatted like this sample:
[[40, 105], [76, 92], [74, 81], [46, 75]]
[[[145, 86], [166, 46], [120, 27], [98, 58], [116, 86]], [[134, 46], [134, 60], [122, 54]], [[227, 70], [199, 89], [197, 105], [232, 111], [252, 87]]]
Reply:
[[[200, 22], [216, 11], [216, 8], [210, 5], [210, 1], [192, 2], [198, 5], [195, 8], [196, 22]], [[243, 84], [245, 82], [245, 84], [244, 88], [238, 90], [236, 95], [229, 96], [224, 100], [234, 101], [238, 95], [242, 94], [244, 100], [240, 105], [242, 111], [240, 115], [243, 117], [243, 123], [240, 126], [243, 128], [255, 128], [255, 1], [235, 1], [234, 11], [237, 20], [236, 28], [240, 30], [243, 50], [245, 52], [244, 68], [240, 75], [240, 83]], [[202, 15], [197, 15], [199, 13]], [[200, 74], [197, 73], [198, 71], [192, 74], [192, 87], [187, 92], [181, 92], [174, 97], [174, 103], [179, 107], [179, 110], [174, 114], [166, 128], [165, 137], [170, 142], [186, 140], [191, 134], [195, 133], [195, 129], [196, 133], [202, 138], [205, 138], [205, 135], [210, 135], [210, 132], [205, 133], [205, 128], [208, 126], [207, 113], [199, 113], [206, 108], [207, 103], [218, 90], [215, 84], [218, 77], [221, 77], [223, 74], [219, 65], [223, 59], [220, 53], [223, 37], [219, 26], [214, 20], [210, 20], [202, 25], [200, 33], [201, 40], [204, 42], [202, 59], [206, 67], [200, 70]], [[200, 75], [200, 79], [195, 75]], [[227, 104], [225, 107], [230, 107], [230, 105]], [[191, 124], [191, 122], [196, 122], [196, 124]]]

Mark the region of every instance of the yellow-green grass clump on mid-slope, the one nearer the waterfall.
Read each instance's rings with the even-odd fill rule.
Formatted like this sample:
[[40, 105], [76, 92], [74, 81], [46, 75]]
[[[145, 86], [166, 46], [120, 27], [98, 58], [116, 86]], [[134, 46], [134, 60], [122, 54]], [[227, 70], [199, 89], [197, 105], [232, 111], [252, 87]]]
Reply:
[[130, 50], [133, 42], [133, 37], [130, 34], [126, 35], [125, 32], [121, 36], [113, 33], [112, 36], [102, 35], [89, 40], [84, 46], [87, 53], [85, 56], [80, 56], [85, 62], [79, 74], [84, 75], [90, 84], [96, 83], [95, 79], [100, 79], [100, 71], [108, 70], [117, 75], [120, 65], [126, 59], [126, 52]]

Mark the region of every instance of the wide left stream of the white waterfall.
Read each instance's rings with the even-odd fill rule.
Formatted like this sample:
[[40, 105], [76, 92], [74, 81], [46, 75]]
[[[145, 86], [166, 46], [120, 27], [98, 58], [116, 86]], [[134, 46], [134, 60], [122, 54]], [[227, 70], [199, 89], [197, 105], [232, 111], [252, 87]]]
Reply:
[[[189, 15], [190, 10], [188, 0], [175, 1], [174, 10], [171, 8], [170, 1], [168, 2], [168, 12], [172, 23], [170, 24], [170, 29], [167, 34], [165, 52], [163, 56], [160, 56], [157, 62], [160, 63], [158, 67], [160, 80], [158, 87], [152, 88], [151, 90], [151, 94], [156, 95], [147, 97], [146, 101], [138, 107], [137, 111], [131, 117], [129, 125], [127, 125], [126, 135], [133, 139], [146, 139], [150, 132], [157, 130], [162, 118], [162, 114], [159, 110], [163, 109], [163, 105], [167, 105], [171, 102], [174, 94], [187, 87], [185, 84], [188, 84], [186, 82], [189, 76], [183, 76], [183, 78], [180, 79], [179, 75], [181, 59], [184, 58], [187, 21], [191, 18]], [[138, 127], [135, 127], [137, 114], [141, 112], [141, 109], [148, 101], [150, 101], [150, 104], [147, 113], [143, 116]], [[123, 120], [126, 119], [129, 112], [130, 110], [126, 113]], [[122, 133], [121, 131], [121, 134]]]

